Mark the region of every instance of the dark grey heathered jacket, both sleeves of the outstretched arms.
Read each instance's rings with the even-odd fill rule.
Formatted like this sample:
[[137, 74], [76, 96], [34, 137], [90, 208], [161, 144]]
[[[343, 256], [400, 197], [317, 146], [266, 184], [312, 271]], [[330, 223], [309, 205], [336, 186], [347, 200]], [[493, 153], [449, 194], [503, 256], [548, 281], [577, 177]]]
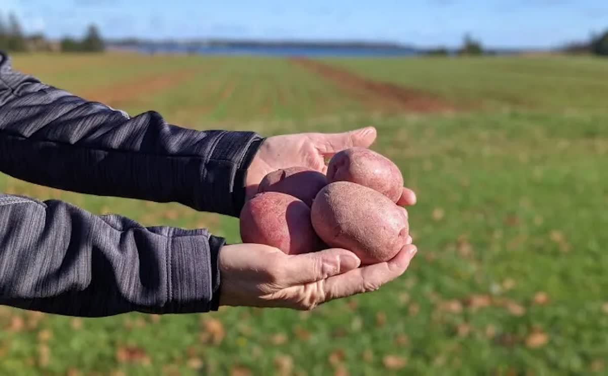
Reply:
[[[0, 171], [63, 190], [237, 216], [253, 132], [129, 118], [16, 72], [0, 53]], [[0, 196], [0, 304], [75, 316], [216, 310], [224, 239], [58, 200]]]

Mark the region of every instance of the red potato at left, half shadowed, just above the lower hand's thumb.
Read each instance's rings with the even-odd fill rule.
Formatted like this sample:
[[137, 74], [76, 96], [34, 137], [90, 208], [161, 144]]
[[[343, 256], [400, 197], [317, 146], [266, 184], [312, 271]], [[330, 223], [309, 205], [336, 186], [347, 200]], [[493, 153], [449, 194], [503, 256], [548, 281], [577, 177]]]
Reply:
[[288, 255], [318, 251], [322, 244], [310, 222], [308, 205], [285, 193], [258, 193], [247, 201], [240, 230], [244, 243], [271, 245]]

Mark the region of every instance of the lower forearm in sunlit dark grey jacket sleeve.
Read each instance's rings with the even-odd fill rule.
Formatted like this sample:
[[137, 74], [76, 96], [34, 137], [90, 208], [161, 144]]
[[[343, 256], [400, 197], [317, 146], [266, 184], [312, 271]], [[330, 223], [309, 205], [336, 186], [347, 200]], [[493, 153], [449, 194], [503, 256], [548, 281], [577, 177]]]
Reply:
[[0, 195], [0, 304], [72, 316], [215, 310], [206, 230], [144, 228], [64, 202]]

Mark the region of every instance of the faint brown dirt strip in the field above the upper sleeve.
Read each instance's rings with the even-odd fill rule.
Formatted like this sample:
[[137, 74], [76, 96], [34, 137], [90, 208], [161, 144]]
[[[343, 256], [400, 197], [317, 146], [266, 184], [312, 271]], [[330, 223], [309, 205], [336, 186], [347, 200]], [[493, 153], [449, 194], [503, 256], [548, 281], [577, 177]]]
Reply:
[[201, 68], [198, 67], [164, 74], [154, 73], [78, 94], [88, 100], [98, 101], [108, 104], [108, 106], [121, 106], [128, 101], [137, 100], [139, 97], [150, 97], [176, 87], [200, 72]]

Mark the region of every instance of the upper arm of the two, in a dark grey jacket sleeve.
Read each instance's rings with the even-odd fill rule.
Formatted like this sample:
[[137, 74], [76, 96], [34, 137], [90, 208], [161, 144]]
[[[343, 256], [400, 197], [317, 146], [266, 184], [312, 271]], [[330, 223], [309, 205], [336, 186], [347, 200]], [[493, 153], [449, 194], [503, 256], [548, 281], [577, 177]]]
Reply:
[[261, 142], [179, 128], [156, 112], [130, 118], [16, 72], [0, 53], [0, 171], [18, 179], [237, 216]]

